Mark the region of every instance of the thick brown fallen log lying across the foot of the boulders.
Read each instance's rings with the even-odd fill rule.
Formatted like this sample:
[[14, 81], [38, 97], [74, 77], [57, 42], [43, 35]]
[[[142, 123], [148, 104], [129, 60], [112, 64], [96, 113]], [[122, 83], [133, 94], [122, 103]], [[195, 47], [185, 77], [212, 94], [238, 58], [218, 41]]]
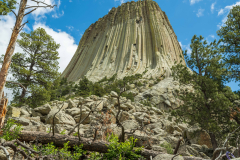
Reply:
[[[108, 150], [109, 142], [106, 141], [99, 141], [90, 138], [81, 138], [81, 141], [78, 140], [78, 137], [74, 136], [68, 136], [68, 135], [61, 135], [61, 134], [55, 134], [52, 136], [52, 134], [45, 133], [45, 132], [32, 132], [32, 131], [22, 131], [19, 134], [20, 141], [30, 142], [30, 141], [38, 141], [38, 143], [42, 144], [48, 144], [50, 142], [53, 142], [57, 147], [63, 147], [63, 144], [68, 142], [68, 145], [70, 147], [73, 147], [75, 145], [83, 144], [83, 150], [87, 151], [95, 151], [100, 153], [106, 153]], [[161, 152], [152, 151], [143, 149], [141, 152], [141, 155], [147, 159], [150, 159], [150, 156], [153, 158], [157, 156], [158, 154], [161, 154]]]

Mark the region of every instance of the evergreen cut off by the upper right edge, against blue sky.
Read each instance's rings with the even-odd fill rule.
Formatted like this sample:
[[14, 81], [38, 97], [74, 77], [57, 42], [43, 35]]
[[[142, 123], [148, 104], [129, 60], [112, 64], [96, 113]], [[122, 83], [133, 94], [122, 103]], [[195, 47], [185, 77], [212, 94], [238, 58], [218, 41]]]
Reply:
[[220, 36], [221, 51], [232, 69], [232, 78], [240, 80], [240, 6], [231, 9], [225, 25], [217, 31]]

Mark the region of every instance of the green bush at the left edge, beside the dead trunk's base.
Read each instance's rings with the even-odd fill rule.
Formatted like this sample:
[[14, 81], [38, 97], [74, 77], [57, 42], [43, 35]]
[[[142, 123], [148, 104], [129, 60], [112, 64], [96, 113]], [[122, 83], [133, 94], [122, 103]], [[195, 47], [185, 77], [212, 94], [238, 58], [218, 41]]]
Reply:
[[[14, 127], [14, 125], [17, 126]], [[14, 127], [14, 129], [11, 131], [12, 127]], [[20, 124], [16, 124], [15, 120], [13, 119], [8, 119], [7, 124], [5, 124], [2, 129], [3, 134], [1, 135], [1, 137], [6, 141], [12, 141], [18, 138], [18, 134], [21, 132], [21, 130], [22, 127]]]

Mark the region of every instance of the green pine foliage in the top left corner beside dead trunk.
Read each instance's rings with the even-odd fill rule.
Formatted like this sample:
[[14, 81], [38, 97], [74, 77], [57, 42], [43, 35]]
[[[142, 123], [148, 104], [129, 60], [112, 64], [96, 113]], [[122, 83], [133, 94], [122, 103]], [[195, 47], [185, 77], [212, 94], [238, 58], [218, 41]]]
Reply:
[[16, 9], [16, 0], [0, 0], [0, 16], [7, 15], [12, 9]]

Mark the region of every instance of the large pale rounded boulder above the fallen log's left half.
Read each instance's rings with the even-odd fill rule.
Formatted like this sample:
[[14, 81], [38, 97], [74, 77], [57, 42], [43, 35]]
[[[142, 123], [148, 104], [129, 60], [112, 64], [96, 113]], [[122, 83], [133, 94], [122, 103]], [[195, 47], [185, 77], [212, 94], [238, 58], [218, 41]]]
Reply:
[[[59, 110], [53, 109], [50, 111], [50, 113], [47, 115], [46, 118], [46, 124], [52, 124], [53, 123], [53, 117]], [[76, 122], [72, 116], [69, 114], [64, 113], [63, 111], [59, 111], [54, 119], [55, 124], [69, 124], [69, 125], [75, 125]]]

